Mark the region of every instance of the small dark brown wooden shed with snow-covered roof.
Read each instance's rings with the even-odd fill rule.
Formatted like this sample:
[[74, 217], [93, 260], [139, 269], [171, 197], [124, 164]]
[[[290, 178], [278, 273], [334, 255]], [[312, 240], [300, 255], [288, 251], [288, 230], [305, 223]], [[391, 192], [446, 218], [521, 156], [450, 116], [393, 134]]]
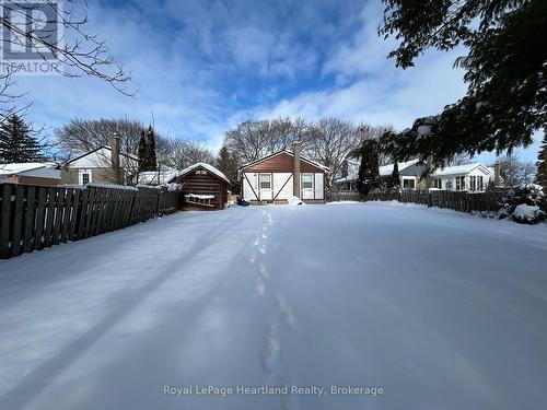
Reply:
[[170, 183], [181, 184], [183, 210], [224, 209], [230, 180], [214, 166], [198, 162], [177, 173]]

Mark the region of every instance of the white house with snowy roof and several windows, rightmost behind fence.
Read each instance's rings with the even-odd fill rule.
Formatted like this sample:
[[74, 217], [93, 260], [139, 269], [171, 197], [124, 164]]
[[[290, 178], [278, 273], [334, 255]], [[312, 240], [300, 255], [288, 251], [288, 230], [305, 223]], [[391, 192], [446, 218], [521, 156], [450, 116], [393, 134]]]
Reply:
[[485, 190], [494, 180], [494, 168], [480, 163], [447, 166], [433, 174], [433, 188], [443, 190]]

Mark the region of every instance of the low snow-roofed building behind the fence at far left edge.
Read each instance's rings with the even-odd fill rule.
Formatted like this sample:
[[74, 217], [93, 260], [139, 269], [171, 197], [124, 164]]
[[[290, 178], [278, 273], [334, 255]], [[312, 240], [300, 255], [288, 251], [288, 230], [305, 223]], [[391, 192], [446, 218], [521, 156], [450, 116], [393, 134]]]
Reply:
[[59, 185], [61, 172], [55, 163], [0, 164], [0, 184]]

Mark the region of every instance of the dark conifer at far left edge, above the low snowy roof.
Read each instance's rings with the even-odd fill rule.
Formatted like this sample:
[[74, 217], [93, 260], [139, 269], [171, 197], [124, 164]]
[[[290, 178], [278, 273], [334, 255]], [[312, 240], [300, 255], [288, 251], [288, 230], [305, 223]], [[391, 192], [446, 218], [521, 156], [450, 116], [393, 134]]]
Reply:
[[33, 136], [31, 127], [16, 114], [0, 125], [0, 162], [24, 163], [44, 160], [43, 145]]

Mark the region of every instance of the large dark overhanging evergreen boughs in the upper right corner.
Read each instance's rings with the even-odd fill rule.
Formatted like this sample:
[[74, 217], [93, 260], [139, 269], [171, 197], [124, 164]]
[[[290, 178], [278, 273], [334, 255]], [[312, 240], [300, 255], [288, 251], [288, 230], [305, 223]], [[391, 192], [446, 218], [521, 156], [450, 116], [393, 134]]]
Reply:
[[456, 153], [498, 153], [532, 143], [547, 124], [547, 1], [383, 0], [380, 34], [399, 40], [389, 54], [409, 68], [428, 48], [465, 45], [467, 94], [412, 129], [392, 133], [400, 161], [432, 155], [435, 164]]

